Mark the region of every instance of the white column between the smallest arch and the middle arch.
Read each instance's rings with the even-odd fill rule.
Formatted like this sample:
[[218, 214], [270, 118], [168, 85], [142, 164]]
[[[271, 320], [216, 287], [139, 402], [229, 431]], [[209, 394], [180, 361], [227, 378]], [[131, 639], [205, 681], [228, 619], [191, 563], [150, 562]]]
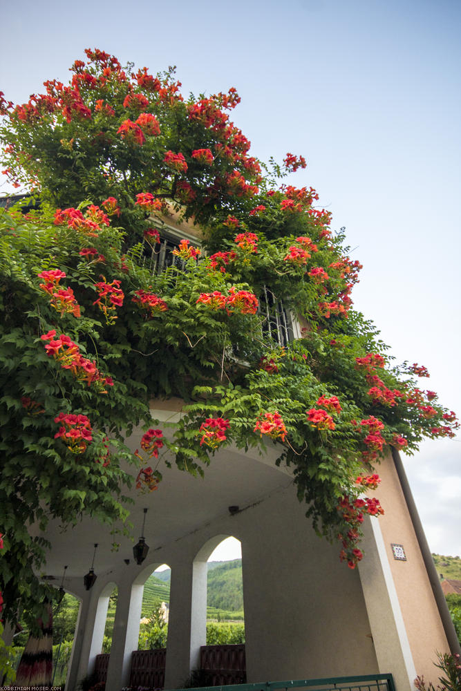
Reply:
[[143, 591], [144, 585], [133, 585], [128, 579], [118, 586], [106, 691], [129, 685], [131, 653], [138, 650]]

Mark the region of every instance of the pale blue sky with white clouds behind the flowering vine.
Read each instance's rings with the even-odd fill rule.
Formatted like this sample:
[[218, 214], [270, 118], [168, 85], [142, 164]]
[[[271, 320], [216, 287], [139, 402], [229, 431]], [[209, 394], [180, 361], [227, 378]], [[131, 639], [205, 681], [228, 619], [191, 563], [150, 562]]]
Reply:
[[[88, 47], [153, 73], [176, 65], [185, 95], [235, 86], [250, 153], [304, 155], [290, 182], [315, 187], [332, 227], [346, 228], [364, 265], [356, 309], [461, 414], [459, 1], [16, 0], [1, 3], [1, 25], [0, 91], [15, 103], [66, 81]], [[429, 547], [453, 556], [460, 443], [427, 441], [404, 458]]]

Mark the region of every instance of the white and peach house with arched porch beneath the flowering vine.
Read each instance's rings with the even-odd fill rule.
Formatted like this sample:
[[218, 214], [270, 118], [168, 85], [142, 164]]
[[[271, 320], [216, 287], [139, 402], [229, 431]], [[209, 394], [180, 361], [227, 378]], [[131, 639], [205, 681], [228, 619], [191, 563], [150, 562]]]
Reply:
[[[194, 238], [190, 227], [173, 222], [162, 231], [160, 268], [178, 238]], [[296, 335], [280, 318], [280, 305], [266, 308], [279, 343], [290, 329]], [[151, 401], [152, 417], [162, 424], [174, 426], [182, 408], [180, 399]], [[129, 439], [133, 451], [140, 436]], [[379, 495], [386, 515], [366, 518], [366, 557], [354, 571], [339, 562], [337, 545], [317, 537], [297, 500], [290, 468], [274, 463], [278, 456], [272, 443], [264, 455], [227, 447], [216, 453], [203, 480], [173, 466], [159, 491], [142, 497], [133, 491], [134, 534], [143, 509], [149, 509], [144, 536], [150, 549], [141, 566], [133, 562], [128, 539], [115, 538], [120, 549], [112, 551], [111, 527], [88, 517], [65, 532], [50, 524], [46, 575], [59, 583], [68, 565], [64, 587], [82, 600], [68, 691], [93, 670], [101, 652], [114, 585], [118, 600], [106, 689], [127, 685], [143, 586], [162, 564], [171, 567], [165, 688], [184, 685], [205, 644], [207, 558], [227, 536], [242, 545], [247, 681], [391, 673], [397, 691], [406, 691], [417, 674], [433, 678], [435, 652], [454, 652], [455, 634], [397, 453], [382, 462]], [[94, 543], [97, 580], [86, 590], [83, 576]], [[280, 583], [290, 583], [290, 589], [281, 591]]]

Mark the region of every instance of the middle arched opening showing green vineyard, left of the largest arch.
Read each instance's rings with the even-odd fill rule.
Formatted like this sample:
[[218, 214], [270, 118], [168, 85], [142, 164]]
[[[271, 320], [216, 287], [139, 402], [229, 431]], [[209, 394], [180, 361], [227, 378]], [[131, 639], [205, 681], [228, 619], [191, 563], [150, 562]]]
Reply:
[[167, 647], [171, 569], [162, 564], [144, 583], [138, 650]]

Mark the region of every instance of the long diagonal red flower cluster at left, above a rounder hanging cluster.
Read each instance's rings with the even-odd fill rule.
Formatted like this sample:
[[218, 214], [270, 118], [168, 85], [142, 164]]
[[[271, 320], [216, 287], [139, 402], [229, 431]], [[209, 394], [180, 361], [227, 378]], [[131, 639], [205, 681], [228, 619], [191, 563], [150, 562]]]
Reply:
[[53, 356], [61, 363], [63, 370], [69, 370], [78, 381], [86, 382], [87, 386], [94, 384], [98, 393], [107, 393], [106, 386], [113, 386], [111, 377], [102, 375], [95, 363], [84, 357], [79, 352], [77, 343], [71, 341], [66, 334], [61, 334], [59, 339], [55, 339], [55, 336], [53, 329], [40, 337], [42, 341], [48, 341], [45, 345], [48, 357]]

